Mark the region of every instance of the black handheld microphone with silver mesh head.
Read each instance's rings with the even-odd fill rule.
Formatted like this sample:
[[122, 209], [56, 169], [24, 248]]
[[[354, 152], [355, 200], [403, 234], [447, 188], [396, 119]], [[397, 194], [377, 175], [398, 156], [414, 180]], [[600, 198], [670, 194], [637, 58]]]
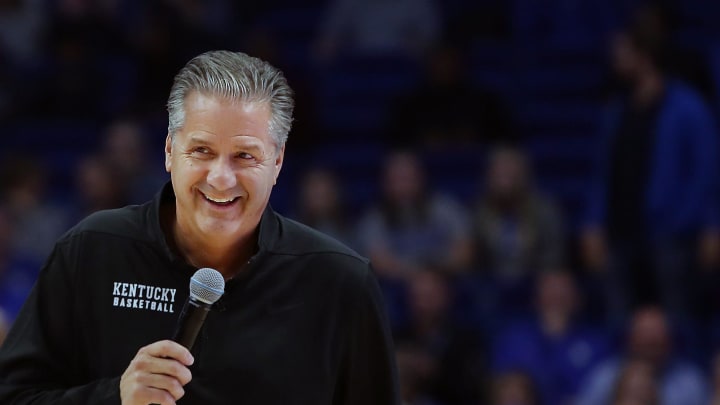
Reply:
[[225, 278], [219, 271], [202, 268], [190, 278], [190, 296], [178, 318], [172, 340], [190, 350], [212, 305], [225, 292]]

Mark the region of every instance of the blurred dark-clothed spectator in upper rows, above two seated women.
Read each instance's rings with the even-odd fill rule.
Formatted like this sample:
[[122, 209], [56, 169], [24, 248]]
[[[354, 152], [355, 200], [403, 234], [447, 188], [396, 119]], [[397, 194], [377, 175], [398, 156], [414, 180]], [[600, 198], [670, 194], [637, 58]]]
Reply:
[[389, 139], [434, 148], [515, 141], [507, 108], [496, 94], [473, 86], [466, 59], [450, 44], [434, 48], [424, 59], [423, 81], [394, 106]]

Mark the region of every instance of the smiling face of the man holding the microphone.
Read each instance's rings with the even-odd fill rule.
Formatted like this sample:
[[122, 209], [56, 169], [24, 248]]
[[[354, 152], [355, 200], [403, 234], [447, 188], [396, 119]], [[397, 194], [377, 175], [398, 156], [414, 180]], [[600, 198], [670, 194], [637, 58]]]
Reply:
[[269, 120], [266, 103], [188, 94], [185, 124], [165, 145], [181, 234], [235, 241], [255, 230], [285, 152]]

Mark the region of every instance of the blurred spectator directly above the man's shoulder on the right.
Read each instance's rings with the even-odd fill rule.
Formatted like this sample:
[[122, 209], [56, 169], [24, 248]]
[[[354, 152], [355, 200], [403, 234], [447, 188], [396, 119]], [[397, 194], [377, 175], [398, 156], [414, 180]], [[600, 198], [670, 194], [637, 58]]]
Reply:
[[354, 245], [342, 192], [331, 171], [317, 168], [303, 175], [296, 211], [300, 222]]

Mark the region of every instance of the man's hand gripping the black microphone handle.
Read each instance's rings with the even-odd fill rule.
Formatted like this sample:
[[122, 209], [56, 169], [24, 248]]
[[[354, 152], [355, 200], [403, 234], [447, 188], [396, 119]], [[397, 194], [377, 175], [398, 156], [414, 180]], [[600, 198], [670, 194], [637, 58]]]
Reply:
[[123, 405], [174, 405], [185, 395], [194, 359], [183, 346], [162, 340], [143, 347], [120, 378]]

